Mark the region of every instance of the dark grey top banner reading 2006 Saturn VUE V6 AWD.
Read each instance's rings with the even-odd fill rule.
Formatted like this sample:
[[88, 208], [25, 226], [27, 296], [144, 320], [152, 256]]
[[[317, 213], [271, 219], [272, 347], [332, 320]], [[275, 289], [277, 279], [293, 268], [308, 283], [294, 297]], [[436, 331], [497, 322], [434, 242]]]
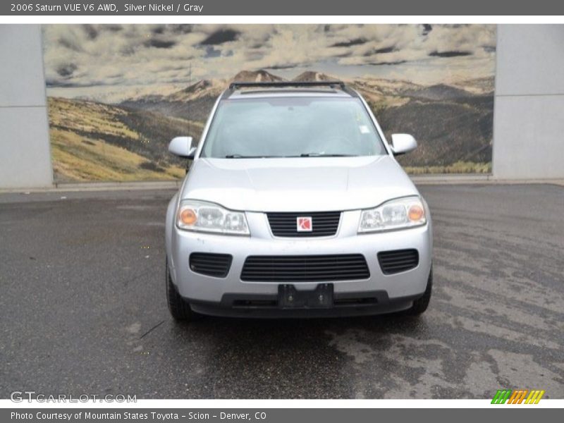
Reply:
[[8, 0], [1, 16], [561, 16], [554, 0]]

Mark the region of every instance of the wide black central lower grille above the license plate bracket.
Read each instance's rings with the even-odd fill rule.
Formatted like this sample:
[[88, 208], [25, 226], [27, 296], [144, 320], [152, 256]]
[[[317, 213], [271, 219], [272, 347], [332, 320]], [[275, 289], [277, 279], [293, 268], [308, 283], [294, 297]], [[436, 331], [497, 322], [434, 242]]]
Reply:
[[327, 282], [367, 279], [370, 271], [364, 256], [249, 256], [241, 280], [262, 282]]

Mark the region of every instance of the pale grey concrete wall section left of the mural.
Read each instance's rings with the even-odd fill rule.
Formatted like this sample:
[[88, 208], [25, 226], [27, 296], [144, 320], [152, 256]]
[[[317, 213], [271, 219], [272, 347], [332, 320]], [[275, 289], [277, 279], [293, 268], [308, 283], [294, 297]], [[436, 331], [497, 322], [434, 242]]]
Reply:
[[0, 58], [0, 189], [51, 186], [39, 25], [0, 25]]

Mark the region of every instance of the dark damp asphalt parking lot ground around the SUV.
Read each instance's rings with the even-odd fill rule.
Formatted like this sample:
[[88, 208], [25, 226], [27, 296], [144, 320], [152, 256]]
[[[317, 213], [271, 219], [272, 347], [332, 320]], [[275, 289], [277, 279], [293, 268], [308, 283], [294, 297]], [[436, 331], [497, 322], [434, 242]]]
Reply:
[[0, 398], [564, 398], [564, 188], [425, 185], [434, 296], [419, 318], [176, 324], [171, 190], [0, 195]]

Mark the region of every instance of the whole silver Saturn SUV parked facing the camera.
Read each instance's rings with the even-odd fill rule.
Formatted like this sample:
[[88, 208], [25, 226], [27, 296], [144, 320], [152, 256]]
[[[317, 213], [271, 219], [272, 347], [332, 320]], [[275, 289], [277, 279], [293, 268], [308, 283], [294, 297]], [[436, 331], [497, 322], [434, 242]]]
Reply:
[[343, 82], [233, 82], [217, 99], [166, 214], [166, 296], [198, 314], [421, 314], [429, 207], [360, 94]]

